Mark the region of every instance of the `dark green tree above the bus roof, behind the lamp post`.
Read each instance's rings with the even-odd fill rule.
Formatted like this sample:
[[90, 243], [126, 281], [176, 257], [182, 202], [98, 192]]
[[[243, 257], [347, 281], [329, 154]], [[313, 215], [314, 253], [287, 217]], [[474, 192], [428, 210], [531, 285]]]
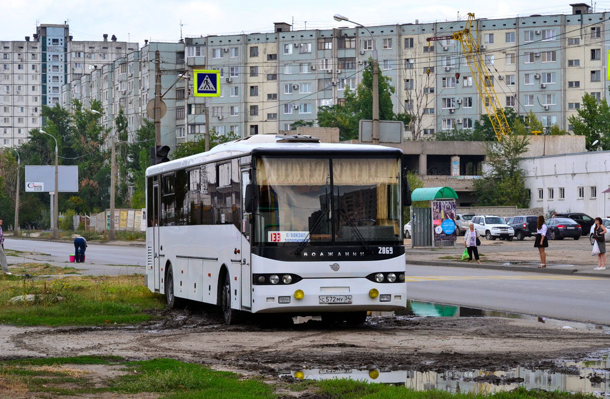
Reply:
[[[379, 120], [407, 121], [409, 115], [394, 113], [392, 94], [395, 92], [392, 79], [379, 74]], [[355, 91], [345, 89], [344, 104], [325, 105], [318, 108], [318, 125], [320, 127], [338, 127], [340, 140], [358, 138], [360, 119], [373, 119], [373, 59], [362, 72], [362, 82]]]

